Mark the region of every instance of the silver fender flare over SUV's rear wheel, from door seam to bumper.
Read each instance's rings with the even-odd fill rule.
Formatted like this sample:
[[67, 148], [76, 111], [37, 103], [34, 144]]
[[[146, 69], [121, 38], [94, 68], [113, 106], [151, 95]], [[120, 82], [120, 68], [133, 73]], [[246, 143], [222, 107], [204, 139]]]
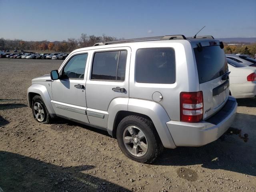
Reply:
[[166, 125], [166, 122], [170, 121], [170, 118], [160, 104], [148, 100], [130, 98], [128, 102], [128, 111], [137, 112], [150, 117], [164, 147], [171, 149], [176, 148]]

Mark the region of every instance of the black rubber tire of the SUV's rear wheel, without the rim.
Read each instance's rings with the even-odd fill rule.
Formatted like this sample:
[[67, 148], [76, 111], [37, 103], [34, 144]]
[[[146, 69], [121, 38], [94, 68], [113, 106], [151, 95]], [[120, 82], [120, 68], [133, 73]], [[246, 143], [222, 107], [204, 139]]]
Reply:
[[[143, 156], [135, 156], [126, 148], [123, 141], [123, 134], [128, 126], [136, 126], [140, 128], [142, 132], [144, 132], [148, 142], [148, 150]], [[164, 149], [164, 146], [158, 136], [158, 133], [156, 132], [153, 122], [140, 116], [132, 115], [122, 119], [118, 124], [116, 137], [122, 152], [128, 158], [140, 163], [152, 163]]]

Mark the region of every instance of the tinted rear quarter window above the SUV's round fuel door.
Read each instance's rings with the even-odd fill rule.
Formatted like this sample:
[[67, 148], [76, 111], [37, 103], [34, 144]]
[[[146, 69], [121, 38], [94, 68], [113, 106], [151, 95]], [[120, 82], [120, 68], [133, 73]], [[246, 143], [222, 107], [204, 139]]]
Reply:
[[176, 80], [175, 68], [173, 48], [144, 48], [136, 52], [136, 82], [173, 84]]

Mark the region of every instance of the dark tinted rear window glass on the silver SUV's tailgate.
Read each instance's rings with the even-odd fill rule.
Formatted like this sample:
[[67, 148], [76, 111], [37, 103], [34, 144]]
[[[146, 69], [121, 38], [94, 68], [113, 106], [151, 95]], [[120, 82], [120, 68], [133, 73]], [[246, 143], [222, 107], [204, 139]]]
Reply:
[[224, 50], [220, 46], [194, 48], [199, 83], [204, 83], [222, 76], [228, 71]]

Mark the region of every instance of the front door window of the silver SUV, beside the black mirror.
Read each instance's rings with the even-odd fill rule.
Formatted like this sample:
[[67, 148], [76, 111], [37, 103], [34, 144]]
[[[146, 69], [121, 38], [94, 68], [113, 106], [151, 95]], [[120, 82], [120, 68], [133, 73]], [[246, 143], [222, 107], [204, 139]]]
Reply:
[[62, 78], [84, 79], [87, 57], [87, 53], [73, 56], [63, 68]]

